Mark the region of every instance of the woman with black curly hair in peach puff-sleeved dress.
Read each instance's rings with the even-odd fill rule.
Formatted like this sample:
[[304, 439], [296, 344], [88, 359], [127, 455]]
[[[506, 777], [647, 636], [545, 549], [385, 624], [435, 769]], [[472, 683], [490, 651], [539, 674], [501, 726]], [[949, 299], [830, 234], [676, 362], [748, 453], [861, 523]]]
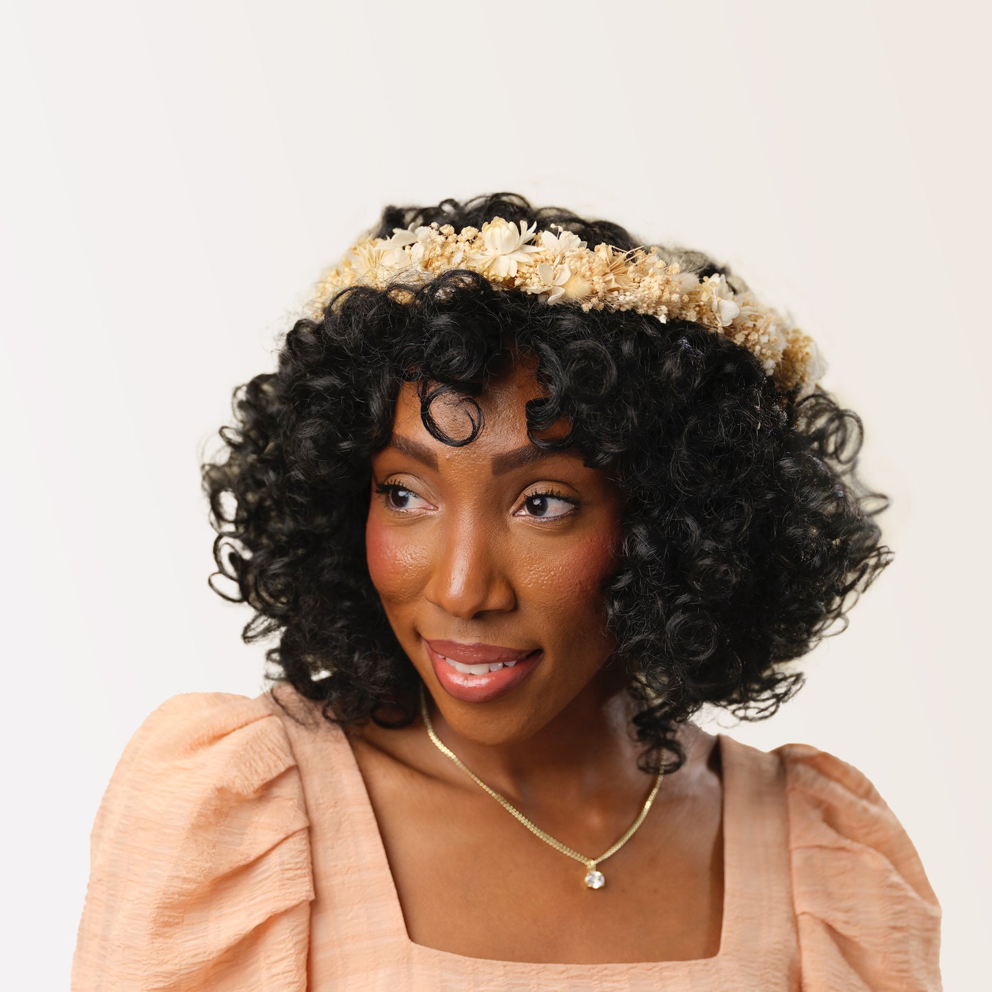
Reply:
[[888, 563], [822, 369], [698, 253], [387, 208], [204, 465], [275, 685], [135, 734], [73, 987], [938, 988], [864, 776], [690, 722], [775, 712]]

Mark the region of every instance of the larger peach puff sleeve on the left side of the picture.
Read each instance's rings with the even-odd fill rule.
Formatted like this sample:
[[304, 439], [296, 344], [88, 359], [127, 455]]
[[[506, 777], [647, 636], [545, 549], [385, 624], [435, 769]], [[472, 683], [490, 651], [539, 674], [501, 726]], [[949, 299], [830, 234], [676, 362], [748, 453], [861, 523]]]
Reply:
[[127, 744], [96, 814], [73, 992], [303, 992], [309, 825], [265, 696], [167, 700]]

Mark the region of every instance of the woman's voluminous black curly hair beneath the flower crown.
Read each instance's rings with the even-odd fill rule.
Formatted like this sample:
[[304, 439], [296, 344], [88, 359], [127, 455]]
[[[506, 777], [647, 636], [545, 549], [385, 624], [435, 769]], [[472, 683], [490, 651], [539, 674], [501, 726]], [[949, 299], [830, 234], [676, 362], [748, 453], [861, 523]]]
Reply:
[[[370, 233], [494, 216], [561, 224], [590, 245], [645, 243], [513, 193], [389, 206]], [[705, 255], [673, 251], [700, 278], [746, 288]], [[626, 495], [619, 564], [603, 587], [609, 664], [625, 666], [639, 703], [641, 767], [675, 770], [678, 724], [704, 703], [745, 719], [774, 713], [803, 682], [785, 663], [843, 630], [891, 560], [872, 519], [887, 499], [855, 473], [857, 415], [818, 387], [782, 394], [750, 351], [697, 323], [549, 307], [466, 270], [340, 291], [320, 318], [295, 322], [278, 371], [234, 391], [236, 424], [219, 432], [227, 457], [202, 465], [217, 533], [211, 587], [255, 610], [246, 643], [282, 632], [266, 653], [281, 671], [268, 678], [321, 702], [325, 719], [409, 724], [419, 676], [366, 565], [370, 455], [389, 439], [404, 382], [434, 437], [470, 443], [482, 426], [472, 399], [515, 350], [536, 356], [547, 392], [527, 406], [533, 442], [577, 449]], [[431, 416], [449, 393], [474, 408], [465, 437]], [[534, 436], [560, 418], [565, 437]], [[217, 575], [239, 594], [217, 589]]]

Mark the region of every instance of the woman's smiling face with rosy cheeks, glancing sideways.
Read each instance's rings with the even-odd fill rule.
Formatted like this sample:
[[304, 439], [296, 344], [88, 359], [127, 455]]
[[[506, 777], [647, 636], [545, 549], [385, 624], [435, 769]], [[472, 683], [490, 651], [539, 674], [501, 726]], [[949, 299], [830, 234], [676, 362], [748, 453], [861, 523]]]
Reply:
[[[526, 739], [580, 694], [607, 691], [600, 588], [622, 496], [577, 453], [530, 442], [524, 405], [541, 395], [518, 360], [478, 398], [481, 434], [452, 447], [428, 434], [404, 384], [391, 441], [372, 457], [369, 573], [444, 719], [479, 743]], [[432, 413], [445, 434], [467, 433], [456, 400]]]

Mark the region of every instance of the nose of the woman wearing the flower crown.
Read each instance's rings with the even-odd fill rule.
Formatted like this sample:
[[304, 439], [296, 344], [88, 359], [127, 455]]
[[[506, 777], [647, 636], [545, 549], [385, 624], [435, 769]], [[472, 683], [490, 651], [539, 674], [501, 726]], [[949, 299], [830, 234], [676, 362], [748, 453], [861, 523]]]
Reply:
[[512, 610], [517, 596], [498, 544], [478, 522], [441, 530], [424, 590], [427, 599], [464, 620]]

